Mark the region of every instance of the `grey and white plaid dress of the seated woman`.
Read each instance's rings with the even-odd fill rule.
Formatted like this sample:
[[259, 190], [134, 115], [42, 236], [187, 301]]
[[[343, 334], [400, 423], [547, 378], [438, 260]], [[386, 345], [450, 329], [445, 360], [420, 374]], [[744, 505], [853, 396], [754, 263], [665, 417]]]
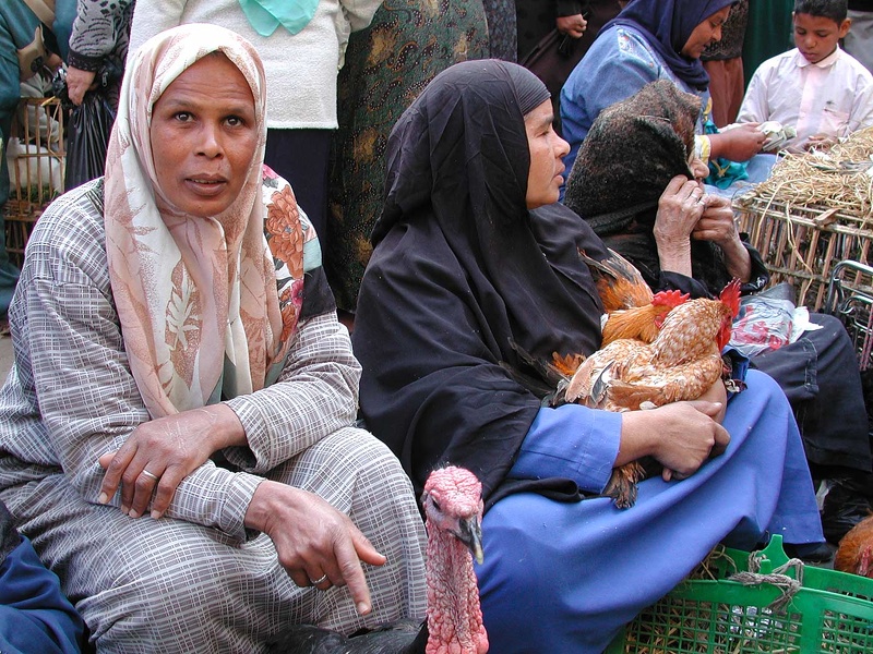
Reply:
[[[15, 363], [0, 390], [0, 498], [61, 579], [100, 652], [262, 652], [290, 622], [351, 632], [426, 604], [423, 526], [390, 450], [349, 427], [360, 366], [335, 316], [299, 325], [278, 382], [227, 403], [248, 448], [177, 488], [165, 518], [96, 502], [100, 455], [148, 413], [128, 366], [97, 184], [57, 199], [28, 243], [10, 311]], [[373, 611], [345, 588], [297, 588], [243, 526], [263, 479], [318, 494], [387, 557], [366, 567]]]

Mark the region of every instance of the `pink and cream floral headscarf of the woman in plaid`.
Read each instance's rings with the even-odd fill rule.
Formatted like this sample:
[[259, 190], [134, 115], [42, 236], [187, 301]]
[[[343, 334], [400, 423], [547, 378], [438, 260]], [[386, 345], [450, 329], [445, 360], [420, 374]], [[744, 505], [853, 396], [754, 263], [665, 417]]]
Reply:
[[[170, 83], [214, 51], [251, 87], [258, 145], [234, 203], [194, 218], [162, 191], [150, 129]], [[128, 63], [107, 154], [106, 250], [130, 367], [153, 417], [263, 388], [287, 355], [303, 241], [314, 232], [303, 233], [290, 186], [263, 166], [265, 88], [252, 46], [215, 25], [164, 32]]]

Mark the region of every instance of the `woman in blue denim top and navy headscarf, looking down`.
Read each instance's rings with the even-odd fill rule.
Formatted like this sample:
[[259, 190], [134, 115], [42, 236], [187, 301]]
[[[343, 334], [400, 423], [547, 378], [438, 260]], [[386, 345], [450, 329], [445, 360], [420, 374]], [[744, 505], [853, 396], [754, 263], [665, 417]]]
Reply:
[[734, 1], [634, 0], [603, 26], [561, 89], [561, 129], [571, 146], [567, 172], [597, 116], [655, 80], [669, 80], [701, 98], [695, 145], [701, 159], [745, 161], [758, 153], [765, 136], [753, 123], [703, 136], [710, 101], [701, 55], [721, 38]]

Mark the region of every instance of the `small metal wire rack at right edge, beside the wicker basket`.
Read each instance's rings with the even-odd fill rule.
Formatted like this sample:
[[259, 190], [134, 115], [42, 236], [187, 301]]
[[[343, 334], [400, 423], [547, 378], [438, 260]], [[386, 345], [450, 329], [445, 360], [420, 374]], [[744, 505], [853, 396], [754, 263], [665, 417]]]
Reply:
[[851, 259], [834, 266], [824, 311], [842, 320], [861, 371], [873, 368], [873, 267]]

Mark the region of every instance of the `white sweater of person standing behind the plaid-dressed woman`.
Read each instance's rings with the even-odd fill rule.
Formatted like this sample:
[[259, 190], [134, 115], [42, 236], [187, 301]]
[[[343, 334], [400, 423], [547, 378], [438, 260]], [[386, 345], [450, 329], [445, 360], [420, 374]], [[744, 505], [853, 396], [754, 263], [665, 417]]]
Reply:
[[238, 0], [137, 0], [130, 50], [170, 27], [212, 23], [249, 39], [264, 62], [266, 123], [272, 129], [336, 129], [336, 75], [348, 36], [370, 24], [381, 0], [320, 0], [296, 35], [279, 25], [268, 37], [249, 24]]

